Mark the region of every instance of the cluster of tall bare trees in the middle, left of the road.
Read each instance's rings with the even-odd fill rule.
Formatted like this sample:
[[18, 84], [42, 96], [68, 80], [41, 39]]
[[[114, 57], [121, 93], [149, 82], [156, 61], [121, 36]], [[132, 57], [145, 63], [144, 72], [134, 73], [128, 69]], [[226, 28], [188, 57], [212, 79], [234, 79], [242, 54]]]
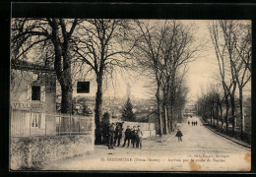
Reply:
[[135, 21], [135, 24], [134, 56], [143, 74], [152, 78], [161, 136], [173, 131], [181, 118], [188, 92], [187, 63], [194, 60], [200, 45], [195, 44], [192, 26], [180, 21]]

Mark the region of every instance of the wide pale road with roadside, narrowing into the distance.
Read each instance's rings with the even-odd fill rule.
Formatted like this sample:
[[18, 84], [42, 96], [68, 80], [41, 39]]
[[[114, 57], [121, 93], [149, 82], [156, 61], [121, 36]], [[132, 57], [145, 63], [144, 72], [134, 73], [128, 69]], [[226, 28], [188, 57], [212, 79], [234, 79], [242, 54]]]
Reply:
[[96, 146], [84, 155], [56, 161], [42, 170], [124, 170], [124, 171], [248, 171], [251, 150], [238, 146], [203, 126], [187, 120], [179, 127], [183, 142], [174, 134], [143, 140], [143, 148], [108, 149]]

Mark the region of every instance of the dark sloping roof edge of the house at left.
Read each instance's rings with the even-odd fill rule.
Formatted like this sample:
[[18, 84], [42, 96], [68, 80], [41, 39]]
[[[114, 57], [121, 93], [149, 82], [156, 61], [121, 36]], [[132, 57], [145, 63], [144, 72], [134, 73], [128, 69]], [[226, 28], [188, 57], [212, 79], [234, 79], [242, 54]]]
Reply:
[[11, 60], [11, 69], [55, 73], [55, 70], [52, 67], [39, 65], [24, 60]]

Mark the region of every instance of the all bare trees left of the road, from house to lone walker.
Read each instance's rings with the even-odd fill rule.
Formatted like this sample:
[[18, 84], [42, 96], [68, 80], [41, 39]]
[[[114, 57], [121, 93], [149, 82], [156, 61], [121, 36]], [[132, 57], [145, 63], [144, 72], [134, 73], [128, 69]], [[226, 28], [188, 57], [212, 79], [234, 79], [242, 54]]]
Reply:
[[191, 27], [179, 21], [149, 22], [13, 19], [12, 60], [33, 58], [54, 68], [61, 88], [62, 113], [72, 112], [73, 84], [92, 74], [96, 80], [96, 143], [101, 142], [103, 81], [112, 80], [117, 68], [142, 69], [154, 79], [160, 135], [167, 134], [184, 106], [186, 64], [198, 47], [193, 45]]

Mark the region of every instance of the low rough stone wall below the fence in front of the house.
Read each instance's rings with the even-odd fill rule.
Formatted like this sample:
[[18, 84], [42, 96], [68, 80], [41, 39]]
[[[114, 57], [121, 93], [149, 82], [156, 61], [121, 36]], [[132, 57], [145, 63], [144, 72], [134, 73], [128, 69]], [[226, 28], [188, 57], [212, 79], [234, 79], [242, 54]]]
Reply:
[[68, 135], [12, 138], [11, 170], [38, 169], [44, 164], [94, 149], [94, 136]]

